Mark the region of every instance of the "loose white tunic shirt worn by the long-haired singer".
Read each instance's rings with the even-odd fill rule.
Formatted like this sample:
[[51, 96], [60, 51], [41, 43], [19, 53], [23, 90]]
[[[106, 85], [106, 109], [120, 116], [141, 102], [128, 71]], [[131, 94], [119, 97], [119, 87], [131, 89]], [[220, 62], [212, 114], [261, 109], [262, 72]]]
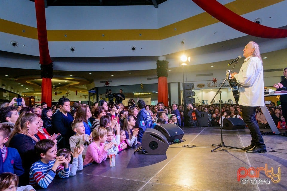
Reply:
[[239, 83], [239, 101], [242, 106], [264, 106], [264, 82], [262, 61], [258, 57], [245, 58], [234, 78]]

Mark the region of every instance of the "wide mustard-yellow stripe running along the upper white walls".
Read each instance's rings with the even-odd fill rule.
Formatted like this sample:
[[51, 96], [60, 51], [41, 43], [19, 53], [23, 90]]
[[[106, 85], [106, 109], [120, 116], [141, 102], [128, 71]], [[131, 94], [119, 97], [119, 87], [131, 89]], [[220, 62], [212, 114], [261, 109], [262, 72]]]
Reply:
[[[224, 6], [238, 15], [268, 7], [284, 0], [236, 0]], [[190, 18], [172, 23], [159, 29], [123, 30], [48, 30], [48, 41], [129, 41], [161, 40], [206, 27], [219, 22], [208, 13], [200, 13]], [[25, 32], [23, 32], [25, 30]], [[0, 19], [0, 31], [18, 36], [38, 39], [37, 29], [27, 25]]]

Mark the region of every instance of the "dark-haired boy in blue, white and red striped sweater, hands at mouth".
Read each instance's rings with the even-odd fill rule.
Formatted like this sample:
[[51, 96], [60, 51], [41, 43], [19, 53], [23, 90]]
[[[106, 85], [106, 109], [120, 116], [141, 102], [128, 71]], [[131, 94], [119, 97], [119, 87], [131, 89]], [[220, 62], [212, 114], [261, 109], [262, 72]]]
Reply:
[[[41, 159], [30, 168], [30, 185], [39, 185], [47, 188], [56, 175], [68, 178], [70, 174], [68, 161], [64, 156], [57, 157], [57, 148], [54, 141], [43, 139], [36, 143], [35, 151]], [[55, 159], [56, 158], [56, 159]], [[64, 166], [60, 165], [64, 164]]]

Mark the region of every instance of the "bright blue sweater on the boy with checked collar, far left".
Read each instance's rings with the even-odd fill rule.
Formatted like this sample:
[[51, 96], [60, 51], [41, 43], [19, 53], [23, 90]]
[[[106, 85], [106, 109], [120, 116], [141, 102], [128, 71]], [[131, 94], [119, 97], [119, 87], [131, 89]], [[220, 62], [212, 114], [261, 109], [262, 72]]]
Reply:
[[[3, 171], [4, 172], [12, 172], [18, 176], [24, 173], [24, 169], [22, 167], [22, 160], [17, 151], [17, 149], [6, 147], [7, 148], [7, 157], [3, 163]], [[3, 160], [2, 160], [3, 161]]]

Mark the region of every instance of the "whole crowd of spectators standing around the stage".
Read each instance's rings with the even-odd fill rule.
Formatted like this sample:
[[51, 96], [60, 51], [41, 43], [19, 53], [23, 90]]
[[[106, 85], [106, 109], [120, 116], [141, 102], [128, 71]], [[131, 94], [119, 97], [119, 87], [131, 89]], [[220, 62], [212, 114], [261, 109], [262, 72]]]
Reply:
[[[13, 102], [1, 104], [0, 109], [0, 171], [15, 184], [42, 188], [56, 175], [68, 178], [90, 163], [101, 163], [111, 154], [141, 144], [146, 128], [167, 123], [197, 127], [200, 112], [208, 112], [210, 126], [220, 126], [220, 118], [242, 119], [241, 106], [236, 104], [222, 104], [220, 111], [215, 104], [146, 105], [132, 99], [129, 106], [100, 100], [91, 107], [79, 102], [71, 106], [68, 98], [60, 98], [51, 108], [46, 103], [25, 107], [25, 102], [14, 107]], [[280, 106], [271, 102], [267, 107], [278, 128], [286, 129]], [[256, 118], [259, 127], [268, 127], [260, 107]]]

